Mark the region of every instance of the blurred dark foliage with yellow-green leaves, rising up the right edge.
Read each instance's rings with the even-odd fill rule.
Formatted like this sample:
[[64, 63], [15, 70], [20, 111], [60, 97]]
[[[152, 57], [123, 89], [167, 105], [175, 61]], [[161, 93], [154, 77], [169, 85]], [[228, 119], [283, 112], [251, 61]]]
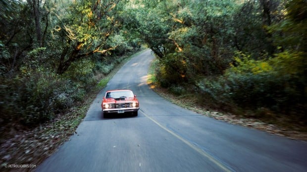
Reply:
[[[307, 22], [306, 15], [302, 15], [306, 13], [306, 5], [304, 0], [290, 0], [283, 20], [267, 27], [278, 53], [270, 58], [266, 54], [255, 58], [238, 53], [234, 57], [235, 63], [223, 75], [204, 78], [197, 83], [201, 93], [212, 102], [235, 104], [256, 111], [272, 110], [279, 117], [286, 115], [306, 124], [307, 54], [304, 39]], [[259, 113], [256, 117], [265, 118], [264, 114]]]

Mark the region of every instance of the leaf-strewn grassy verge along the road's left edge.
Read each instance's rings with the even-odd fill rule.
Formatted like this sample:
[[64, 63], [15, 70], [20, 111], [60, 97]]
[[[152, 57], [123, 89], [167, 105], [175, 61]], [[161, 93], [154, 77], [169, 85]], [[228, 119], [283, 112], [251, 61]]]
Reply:
[[[16, 164], [16, 162], [38, 167], [58, 149], [59, 145], [69, 140], [72, 135], [78, 135], [75, 131], [97, 94], [128, 60], [143, 52], [142, 50], [145, 48], [142, 46], [137, 53], [120, 57], [121, 62], [114, 65], [114, 68], [108, 74], [94, 74], [92, 79], [95, 79], [98, 83], [95, 86], [93, 85], [92, 89], [83, 97], [83, 100], [76, 102], [65, 112], [56, 114], [51, 120], [32, 127], [26, 127], [17, 122], [2, 126], [1, 171], [15, 171], [16, 169], [4, 167], [6, 164]], [[30, 169], [30, 171], [33, 170], [35, 168]]]

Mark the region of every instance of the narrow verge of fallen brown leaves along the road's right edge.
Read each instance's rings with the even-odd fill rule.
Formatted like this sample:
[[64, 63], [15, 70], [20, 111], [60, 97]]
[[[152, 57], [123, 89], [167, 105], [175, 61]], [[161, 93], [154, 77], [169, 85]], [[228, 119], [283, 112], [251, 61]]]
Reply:
[[[284, 136], [291, 139], [307, 140], [307, 127], [300, 123], [289, 122], [287, 118], [272, 120], [273, 118], [255, 118], [242, 111], [227, 108], [214, 108], [208, 103], [200, 102], [195, 92], [186, 92], [186, 88], [164, 88], [159, 85], [156, 70], [159, 69], [159, 60], [156, 58], [149, 69], [149, 86], [164, 99], [196, 113], [221, 120], [230, 124], [245, 126], [261, 130], [272, 135]], [[179, 92], [178, 92], [179, 91]], [[252, 113], [253, 111], [250, 111]], [[275, 115], [275, 114], [271, 114]], [[276, 118], [274, 118], [276, 119]]]

